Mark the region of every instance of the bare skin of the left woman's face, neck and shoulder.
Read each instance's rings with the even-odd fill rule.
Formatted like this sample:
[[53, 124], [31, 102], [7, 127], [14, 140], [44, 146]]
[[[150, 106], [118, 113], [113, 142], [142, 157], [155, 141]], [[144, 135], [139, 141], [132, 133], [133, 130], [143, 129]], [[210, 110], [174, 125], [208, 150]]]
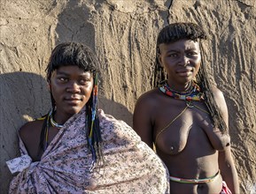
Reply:
[[[89, 71], [83, 71], [77, 66], [62, 66], [52, 72], [49, 86], [56, 102], [53, 119], [63, 124], [89, 101], [93, 77]], [[41, 160], [43, 155], [43, 150], [38, 150], [42, 126], [43, 121], [33, 121], [26, 123], [19, 130], [19, 136], [33, 161]], [[58, 134], [58, 130], [57, 127], [50, 126], [49, 143]]]

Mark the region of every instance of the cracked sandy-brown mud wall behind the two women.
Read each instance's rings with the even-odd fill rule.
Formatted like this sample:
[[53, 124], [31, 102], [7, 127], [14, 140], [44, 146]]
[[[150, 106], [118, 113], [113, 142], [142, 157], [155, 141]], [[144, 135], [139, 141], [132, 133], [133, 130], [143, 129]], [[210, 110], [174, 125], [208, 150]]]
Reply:
[[50, 108], [44, 70], [56, 44], [80, 41], [95, 50], [100, 108], [131, 125], [136, 99], [151, 88], [156, 36], [175, 21], [197, 22], [209, 34], [206, 66], [228, 103], [241, 191], [253, 193], [255, 18], [254, 0], [1, 0], [0, 193], [12, 178], [5, 161], [19, 155], [19, 127]]

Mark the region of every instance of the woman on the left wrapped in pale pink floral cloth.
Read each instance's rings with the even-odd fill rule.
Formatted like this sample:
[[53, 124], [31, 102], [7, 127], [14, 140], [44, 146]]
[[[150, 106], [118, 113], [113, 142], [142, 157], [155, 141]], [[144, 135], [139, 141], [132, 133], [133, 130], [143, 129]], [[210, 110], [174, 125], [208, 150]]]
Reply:
[[99, 63], [81, 43], [59, 44], [47, 80], [52, 108], [19, 130], [7, 161], [10, 193], [168, 193], [167, 168], [128, 124], [97, 108]]

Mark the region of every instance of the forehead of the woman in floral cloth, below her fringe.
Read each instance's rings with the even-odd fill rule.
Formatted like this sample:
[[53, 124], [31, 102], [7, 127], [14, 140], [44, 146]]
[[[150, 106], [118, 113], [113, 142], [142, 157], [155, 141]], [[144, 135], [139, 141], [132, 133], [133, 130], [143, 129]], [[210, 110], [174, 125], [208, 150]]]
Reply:
[[84, 71], [75, 65], [60, 66], [56, 71], [53, 71], [52, 74], [57, 74], [57, 75], [64, 74], [68, 76], [73, 76], [73, 75], [91, 76], [92, 75], [90, 71]]

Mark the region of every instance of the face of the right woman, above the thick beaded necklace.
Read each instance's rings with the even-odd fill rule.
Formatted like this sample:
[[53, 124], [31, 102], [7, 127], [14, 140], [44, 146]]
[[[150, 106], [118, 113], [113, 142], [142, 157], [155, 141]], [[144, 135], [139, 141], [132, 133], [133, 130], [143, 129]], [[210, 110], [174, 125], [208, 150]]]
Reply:
[[201, 63], [198, 41], [182, 39], [160, 44], [159, 63], [167, 71], [168, 84], [182, 88], [198, 74]]

